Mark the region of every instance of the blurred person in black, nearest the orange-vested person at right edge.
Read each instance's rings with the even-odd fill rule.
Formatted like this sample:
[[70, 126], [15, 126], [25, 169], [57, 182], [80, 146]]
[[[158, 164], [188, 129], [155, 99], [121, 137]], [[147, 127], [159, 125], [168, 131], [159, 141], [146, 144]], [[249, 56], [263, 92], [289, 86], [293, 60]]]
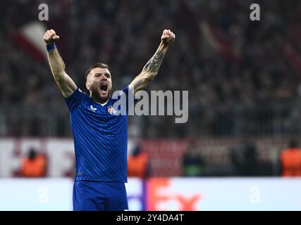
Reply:
[[259, 176], [261, 164], [256, 146], [250, 141], [243, 141], [242, 146], [231, 151], [231, 161], [238, 176]]

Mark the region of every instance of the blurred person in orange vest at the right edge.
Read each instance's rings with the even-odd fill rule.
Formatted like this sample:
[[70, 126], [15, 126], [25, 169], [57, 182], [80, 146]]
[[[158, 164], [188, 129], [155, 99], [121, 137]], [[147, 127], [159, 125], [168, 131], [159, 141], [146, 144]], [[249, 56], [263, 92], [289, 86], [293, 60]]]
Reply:
[[282, 176], [301, 176], [301, 148], [295, 140], [281, 150], [280, 164]]

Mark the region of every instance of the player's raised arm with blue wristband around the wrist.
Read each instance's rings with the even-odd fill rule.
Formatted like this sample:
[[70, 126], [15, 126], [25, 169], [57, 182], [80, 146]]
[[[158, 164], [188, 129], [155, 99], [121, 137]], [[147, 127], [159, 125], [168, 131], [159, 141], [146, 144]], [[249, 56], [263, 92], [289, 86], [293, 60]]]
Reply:
[[47, 56], [52, 75], [59, 85], [61, 92], [65, 98], [68, 98], [78, 88], [73, 80], [65, 72], [65, 63], [59, 51], [56, 49], [55, 42], [59, 40], [54, 30], [47, 30], [44, 34], [44, 41], [47, 44]]

